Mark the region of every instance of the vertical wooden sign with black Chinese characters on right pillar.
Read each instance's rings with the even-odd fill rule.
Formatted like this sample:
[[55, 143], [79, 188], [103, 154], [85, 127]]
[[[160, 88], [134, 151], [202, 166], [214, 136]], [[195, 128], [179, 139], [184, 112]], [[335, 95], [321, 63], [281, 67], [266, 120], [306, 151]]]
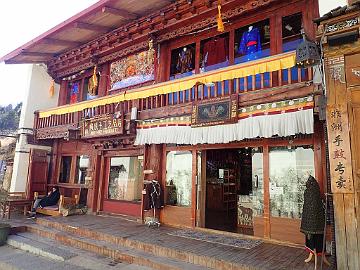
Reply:
[[349, 119], [346, 105], [329, 105], [327, 119], [332, 192], [353, 193]]

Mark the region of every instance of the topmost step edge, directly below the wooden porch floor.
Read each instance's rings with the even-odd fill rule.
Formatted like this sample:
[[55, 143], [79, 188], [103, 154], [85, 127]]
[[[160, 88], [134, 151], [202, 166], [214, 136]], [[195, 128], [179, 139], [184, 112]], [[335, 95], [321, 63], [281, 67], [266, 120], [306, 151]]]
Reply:
[[[38, 218], [36, 220], [36, 223], [46, 228], [56, 229], [62, 232], [84, 237], [86, 239], [103, 241], [107, 245], [111, 244], [111, 245], [116, 245], [118, 247], [131, 248], [139, 252], [145, 252], [146, 254], [149, 255], [163, 257], [163, 258], [171, 258], [171, 259], [183, 261], [185, 263], [190, 263], [191, 265], [198, 265], [198, 266], [217, 269], [217, 270], [257, 269], [256, 267], [251, 267], [249, 265], [242, 264], [241, 262], [225, 261], [220, 258], [216, 258], [215, 256], [206, 256], [206, 255], [204, 256], [193, 253], [191, 251], [186, 251], [186, 247], [183, 246], [179, 246], [177, 248], [165, 247], [154, 243], [146, 243], [146, 242], [130, 239], [128, 237], [114, 236], [84, 227], [71, 226], [65, 223], [56, 222], [54, 219], [49, 220], [49, 219]], [[156, 231], [154, 231], [154, 233], [156, 233]]]

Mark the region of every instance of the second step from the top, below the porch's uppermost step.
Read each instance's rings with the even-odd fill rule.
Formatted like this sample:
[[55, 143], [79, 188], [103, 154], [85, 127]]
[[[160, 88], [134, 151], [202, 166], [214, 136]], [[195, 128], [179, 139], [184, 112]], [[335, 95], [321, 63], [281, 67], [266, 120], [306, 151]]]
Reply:
[[[40, 219], [39, 219], [40, 220]], [[41, 223], [41, 222], [39, 222]], [[129, 264], [137, 264], [140, 266], [149, 267], [159, 270], [205, 270], [209, 269], [203, 266], [195, 265], [185, 262], [183, 260], [174, 259], [171, 257], [160, 257], [153, 255], [152, 253], [134, 249], [128, 246], [123, 246], [110, 241], [104, 241], [101, 239], [94, 239], [82, 234], [69, 232], [65, 230], [58, 230], [54, 228], [56, 226], [43, 226], [40, 224], [27, 225], [27, 231], [54, 239], [56, 242], [87, 250], [109, 257], [115, 261], [123, 261]]]

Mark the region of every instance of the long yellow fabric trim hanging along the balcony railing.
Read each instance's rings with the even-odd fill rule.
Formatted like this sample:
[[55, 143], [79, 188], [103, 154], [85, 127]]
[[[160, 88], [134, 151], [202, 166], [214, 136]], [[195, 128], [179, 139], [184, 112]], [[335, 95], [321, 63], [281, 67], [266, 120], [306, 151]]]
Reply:
[[146, 86], [139, 89], [123, 92], [116, 95], [105, 96], [102, 98], [84, 101], [77, 104], [65, 105], [55, 109], [39, 112], [39, 118], [49, 117], [51, 115], [61, 115], [82, 111], [84, 109], [102, 106], [111, 103], [117, 103], [125, 100], [134, 100], [147, 98], [151, 96], [169, 94], [178, 91], [188, 90], [197, 83], [215, 83], [235, 78], [244, 78], [246, 76], [256, 75], [265, 72], [273, 72], [281, 69], [288, 69], [295, 66], [295, 52], [266, 57], [256, 61], [241, 63], [238, 65], [217, 69], [214, 71], [197, 74], [191, 77], [179, 80], [159, 83], [154, 86]]

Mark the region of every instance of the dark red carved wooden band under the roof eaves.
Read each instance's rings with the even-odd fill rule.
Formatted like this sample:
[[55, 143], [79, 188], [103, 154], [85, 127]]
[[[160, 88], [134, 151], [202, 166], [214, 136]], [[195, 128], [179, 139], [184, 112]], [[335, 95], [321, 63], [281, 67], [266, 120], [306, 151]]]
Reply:
[[[263, 7], [265, 5], [270, 5], [271, 3], [274, 3], [278, 0], [255, 0], [255, 1], [249, 1], [245, 3], [242, 6], [235, 7], [233, 9], [229, 9], [227, 11], [224, 11], [222, 14], [222, 17], [224, 20], [231, 19], [233, 17], [239, 16], [243, 14], [244, 12], [247, 12], [249, 10]], [[229, 1], [227, 4], [231, 4], [234, 1]], [[136, 22], [129, 23], [125, 26], [122, 26], [108, 34], [102, 35], [98, 39], [91, 41], [80, 48], [76, 48], [72, 51], [66, 52], [60, 56], [58, 56], [56, 59], [51, 60], [48, 62], [48, 68], [51, 74], [54, 74], [55, 77], [61, 78], [68, 76], [70, 74], [79, 72], [81, 70], [90, 68], [93, 66], [93, 63], [90, 61], [90, 57], [94, 55], [94, 51], [96, 51], [96, 55], [101, 56], [99, 58], [99, 64], [115, 60], [117, 58], [121, 58], [124, 56], [127, 56], [129, 54], [132, 54], [137, 51], [141, 51], [147, 48], [148, 42], [147, 37], [149, 33], [153, 33], [156, 30], [151, 30], [151, 28], [154, 28], [153, 26], [150, 27], [150, 25], [154, 25], [155, 19], [159, 18], [159, 21], [157, 23], [162, 24], [162, 26], [157, 26], [156, 28], [158, 30], [161, 30], [162, 32], [166, 30], [168, 27], [174, 27], [177, 24], [181, 23], [181, 25], [184, 24], [184, 20], [187, 18], [190, 18], [193, 16], [194, 8], [195, 11], [199, 7], [203, 6], [204, 2], [198, 4], [198, 6], [195, 6], [195, 3], [192, 5], [187, 4], [186, 2], [182, 3], [182, 5], [179, 6], [179, 11], [182, 11], [181, 16], [182, 20], [175, 21], [172, 24], [167, 24], [167, 13], [171, 13], [172, 17], [175, 17], [178, 12], [173, 10], [174, 5], [169, 5], [165, 9], [159, 11], [156, 14], [151, 14], [147, 17], [144, 17], [140, 19], [141, 21], [138, 21], [139, 27], [134, 27]], [[214, 7], [215, 9], [216, 7]], [[223, 7], [224, 10], [226, 10], [226, 6]], [[211, 12], [212, 10], [209, 10], [207, 12]], [[163, 14], [163, 16], [161, 16]], [[147, 19], [150, 18], [151, 21], [148, 21]], [[144, 27], [142, 27], [144, 25]], [[157, 37], [157, 42], [164, 42], [185, 34], [189, 34], [193, 31], [198, 31], [201, 29], [204, 29], [206, 27], [209, 27], [211, 25], [216, 25], [216, 16], [210, 16], [206, 19], [203, 19], [199, 22], [191, 23], [188, 25], [185, 25], [181, 27], [179, 25], [178, 27], [175, 27], [176, 30], [171, 32], [166, 32], [163, 34], [160, 34]], [[146, 28], [145, 28], [146, 26]], [[132, 32], [129, 32], [129, 29], [134, 29]], [[140, 35], [139, 35], [140, 33]], [[126, 35], [135, 35], [136, 39], [126, 38]], [[144, 41], [145, 40], [145, 41]], [[133, 44], [133, 45], [131, 45]], [[117, 49], [119, 48], [119, 49]], [[121, 49], [122, 48], [122, 49]], [[115, 51], [116, 52], [113, 52]], [[106, 55], [104, 55], [106, 54]]]

